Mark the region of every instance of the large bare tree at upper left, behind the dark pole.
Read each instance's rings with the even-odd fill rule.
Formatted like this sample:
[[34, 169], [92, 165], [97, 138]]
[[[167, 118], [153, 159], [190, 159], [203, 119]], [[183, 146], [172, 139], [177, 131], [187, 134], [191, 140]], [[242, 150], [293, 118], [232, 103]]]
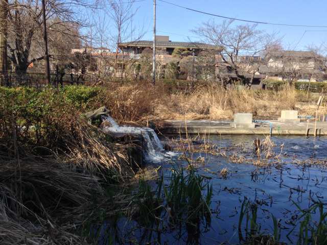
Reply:
[[[63, 23], [71, 22], [79, 25], [80, 20], [72, 10], [72, 4], [83, 5], [83, 2], [80, 0], [69, 3], [61, 0], [46, 2], [46, 21], [49, 21], [50, 32], [71, 35], [71, 31]], [[40, 39], [43, 23], [42, 8], [37, 0], [15, 0], [10, 3], [10, 6], [9, 58], [16, 71], [26, 71], [31, 63], [44, 59], [41, 55], [43, 42]]]

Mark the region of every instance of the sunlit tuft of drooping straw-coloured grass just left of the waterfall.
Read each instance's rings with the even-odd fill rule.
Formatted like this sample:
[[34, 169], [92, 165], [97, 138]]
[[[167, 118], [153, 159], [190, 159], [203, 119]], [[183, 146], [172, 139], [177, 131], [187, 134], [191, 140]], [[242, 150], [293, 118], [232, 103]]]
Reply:
[[67, 140], [68, 162], [73, 168], [101, 174], [105, 180], [114, 177], [115, 181], [121, 181], [132, 177], [135, 162], [128, 155], [127, 148], [133, 146], [109, 142], [106, 137], [97, 128], [82, 122], [74, 137]]

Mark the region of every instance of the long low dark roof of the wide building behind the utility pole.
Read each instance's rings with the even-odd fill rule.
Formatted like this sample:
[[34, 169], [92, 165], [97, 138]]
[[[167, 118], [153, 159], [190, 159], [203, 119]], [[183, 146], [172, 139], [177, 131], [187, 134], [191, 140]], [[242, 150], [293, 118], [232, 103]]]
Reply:
[[[172, 47], [172, 48], [213, 48], [219, 49], [219, 46], [201, 43], [201, 42], [172, 42], [172, 41], [156, 41], [156, 47]], [[130, 47], [152, 47], [153, 41], [134, 41], [134, 42], [122, 42], [119, 46], [130, 46]]]

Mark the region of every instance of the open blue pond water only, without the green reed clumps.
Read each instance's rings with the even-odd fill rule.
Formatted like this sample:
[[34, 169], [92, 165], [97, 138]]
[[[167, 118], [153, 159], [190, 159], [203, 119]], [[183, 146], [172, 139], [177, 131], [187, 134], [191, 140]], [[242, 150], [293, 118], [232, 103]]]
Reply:
[[[256, 159], [253, 154], [253, 140], [263, 139], [262, 136], [211, 136], [210, 143], [217, 147], [225, 148], [240, 145], [241, 148], [229, 150], [229, 155], [234, 152], [247, 159]], [[197, 159], [199, 156], [204, 161], [196, 162], [197, 173], [206, 176], [207, 182], [213, 185], [213, 198], [211, 203], [212, 222], [210, 227], [200, 224], [197, 228], [200, 233], [194, 237], [194, 230], [185, 226], [179, 229], [170, 229], [166, 226], [139, 228], [135, 221], [121, 218], [117, 226], [120, 227], [120, 236], [126, 238], [124, 243], [151, 244], [239, 244], [238, 224], [241, 205], [246, 197], [258, 206], [257, 223], [261, 232], [272, 234], [272, 215], [279, 220], [281, 240], [287, 244], [296, 244], [298, 227], [294, 228], [294, 220], [300, 208], [306, 209], [315, 201], [327, 203], [327, 164], [317, 160], [327, 159], [327, 138], [320, 137], [272, 137], [275, 143], [273, 151], [282, 153], [279, 163], [270, 166], [255, 166], [252, 162], [236, 163], [228, 157], [193, 153], [189, 157]], [[162, 138], [167, 141], [167, 138]], [[283, 145], [283, 148], [280, 146]], [[298, 161], [306, 160], [299, 164]], [[326, 160], [327, 163], [327, 160]], [[185, 160], [174, 156], [172, 161], [155, 163], [161, 166], [165, 179], [171, 175], [171, 169], [177, 166], [186, 167]], [[220, 171], [228, 169], [228, 174], [223, 178]], [[324, 210], [326, 211], [326, 210]], [[164, 217], [161, 217], [164, 218]], [[318, 214], [313, 215], [318, 219]], [[294, 232], [287, 234], [294, 228]], [[159, 230], [159, 232], [158, 232]], [[116, 242], [118, 242], [116, 240]]]

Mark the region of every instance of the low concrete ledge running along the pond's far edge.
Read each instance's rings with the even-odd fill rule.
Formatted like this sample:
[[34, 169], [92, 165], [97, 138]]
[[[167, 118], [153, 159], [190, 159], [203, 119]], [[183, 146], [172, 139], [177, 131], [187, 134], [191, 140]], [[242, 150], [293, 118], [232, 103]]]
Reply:
[[[268, 120], [272, 123], [272, 135], [306, 135], [307, 120], [298, 122], [280, 122]], [[162, 134], [258, 134], [269, 135], [269, 123], [255, 123], [254, 129], [237, 129], [230, 126], [232, 120], [160, 120], [155, 121]], [[309, 135], [314, 135], [315, 121], [309, 124]], [[317, 136], [327, 135], [327, 121], [317, 122]]]

